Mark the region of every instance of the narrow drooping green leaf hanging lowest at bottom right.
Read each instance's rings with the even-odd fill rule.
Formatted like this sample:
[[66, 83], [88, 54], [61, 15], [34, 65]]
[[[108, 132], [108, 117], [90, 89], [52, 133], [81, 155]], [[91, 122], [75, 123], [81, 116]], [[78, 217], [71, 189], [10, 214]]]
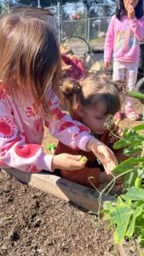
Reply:
[[137, 207], [135, 209], [135, 212], [132, 215], [132, 218], [130, 219], [130, 225], [128, 227], [128, 230], [126, 232], [126, 236], [131, 237], [134, 234], [135, 231], [135, 219], [141, 215], [141, 212], [143, 210], [144, 205], [141, 205], [140, 207]]

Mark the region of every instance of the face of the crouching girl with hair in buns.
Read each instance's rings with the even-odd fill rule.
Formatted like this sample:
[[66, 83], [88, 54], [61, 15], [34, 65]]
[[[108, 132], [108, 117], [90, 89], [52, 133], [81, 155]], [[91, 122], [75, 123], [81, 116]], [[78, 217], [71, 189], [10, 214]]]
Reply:
[[107, 131], [104, 127], [107, 119], [109, 120], [110, 115], [106, 113], [106, 104], [104, 102], [98, 102], [96, 108], [82, 107], [81, 118], [84, 125], [97, 135], [103, 134]]

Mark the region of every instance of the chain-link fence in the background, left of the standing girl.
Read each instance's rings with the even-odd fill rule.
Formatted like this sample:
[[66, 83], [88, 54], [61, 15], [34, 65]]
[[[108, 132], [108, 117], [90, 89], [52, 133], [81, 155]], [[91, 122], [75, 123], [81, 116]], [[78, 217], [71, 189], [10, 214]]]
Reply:
[[99, 42], [102, 47], [116, 5], [93, 3], [86, 6], [76, 3], [60, 6], [58, 3], [49, 9], [57, 20], [59, 41], [66, 37], [78, 36], [92, 45], [95, 41]]

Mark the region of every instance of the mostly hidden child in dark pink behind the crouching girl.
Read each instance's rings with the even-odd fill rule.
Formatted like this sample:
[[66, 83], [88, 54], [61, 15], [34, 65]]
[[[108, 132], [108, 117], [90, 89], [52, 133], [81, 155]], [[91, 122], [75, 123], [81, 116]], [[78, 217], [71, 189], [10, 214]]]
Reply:
[[80, 80], [88, 75], [84, 63], [77, 55], [73, 55], [72, 49], [66, 44], [60, 45], [60, 54], [65, 78]]

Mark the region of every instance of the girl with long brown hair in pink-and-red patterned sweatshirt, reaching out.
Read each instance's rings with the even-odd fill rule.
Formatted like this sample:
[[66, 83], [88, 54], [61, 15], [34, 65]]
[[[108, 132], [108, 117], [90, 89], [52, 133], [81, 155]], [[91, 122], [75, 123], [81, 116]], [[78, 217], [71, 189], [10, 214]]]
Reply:
[[60, 50], [43, 20], [19, 15], [0, 23], [0, 167], [25, 172], [78, 170], [80, 155], [43, 152], [43, 127], [69, 147], [93, 151], [107, 172], [117, 160], [89, 129], [59, 107]]

